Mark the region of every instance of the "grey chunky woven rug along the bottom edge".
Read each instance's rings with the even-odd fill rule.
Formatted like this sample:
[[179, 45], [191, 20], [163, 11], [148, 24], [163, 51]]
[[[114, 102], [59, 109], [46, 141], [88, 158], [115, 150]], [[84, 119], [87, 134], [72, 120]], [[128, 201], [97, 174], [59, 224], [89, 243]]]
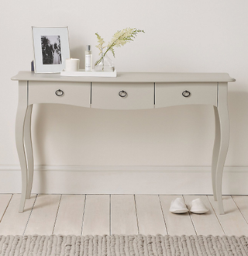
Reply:
[[248, 237], [0, 236], [0, 255], [241, 256], [248, 255]]

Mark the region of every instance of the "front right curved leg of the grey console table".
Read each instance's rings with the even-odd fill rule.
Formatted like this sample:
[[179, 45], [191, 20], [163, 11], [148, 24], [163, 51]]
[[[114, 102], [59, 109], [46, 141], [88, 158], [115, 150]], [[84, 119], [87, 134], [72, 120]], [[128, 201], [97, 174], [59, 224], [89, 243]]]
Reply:
[[219, 206], [219, 213], [224, 213], [222, 202], [222, 173], [226, 161], [226, 154], [229, 147], [229, 113], [227, 105], [227, 84], [219, 83], [218, 93], [218, 114], [219, 114], [219, 155], [216, 163], [216, 198]]

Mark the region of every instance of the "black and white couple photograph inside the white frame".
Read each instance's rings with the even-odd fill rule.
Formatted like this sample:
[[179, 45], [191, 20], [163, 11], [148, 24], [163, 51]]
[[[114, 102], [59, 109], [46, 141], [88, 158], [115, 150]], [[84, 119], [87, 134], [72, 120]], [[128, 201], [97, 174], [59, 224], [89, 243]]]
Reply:
[[60, 36], [41, 36], [43, 65], [61, 64]]

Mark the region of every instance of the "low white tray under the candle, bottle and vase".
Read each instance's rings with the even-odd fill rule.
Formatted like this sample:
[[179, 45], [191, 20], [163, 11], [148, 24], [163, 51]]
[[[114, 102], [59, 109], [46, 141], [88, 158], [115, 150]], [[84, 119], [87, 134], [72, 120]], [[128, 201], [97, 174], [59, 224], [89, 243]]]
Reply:
[[116, 78], [117, 72], [96, 72], [96, 71], [84, 71], [80, 69], [79, 71], [61, 71], [61, 76], [65, 77], [99, 77], [99, 78]]

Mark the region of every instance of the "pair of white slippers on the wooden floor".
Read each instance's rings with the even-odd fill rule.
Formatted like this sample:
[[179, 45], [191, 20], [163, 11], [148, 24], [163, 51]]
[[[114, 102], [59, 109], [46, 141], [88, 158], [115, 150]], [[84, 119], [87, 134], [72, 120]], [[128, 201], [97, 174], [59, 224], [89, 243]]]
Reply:
[[177, 197], [177, 199], [174, 199], [171, 202], [171, 207], [170, 207], [171, 213], [188, 213], [189, 211], [191, 213], [202, 214], [202, 213], [207, 213], [209, 209], [204, 205], [201, 199], [193, 200], [190, 203], [189, 208], [187, 208], [184, 202], [184, 199], [182, 199], [181, 197]]

